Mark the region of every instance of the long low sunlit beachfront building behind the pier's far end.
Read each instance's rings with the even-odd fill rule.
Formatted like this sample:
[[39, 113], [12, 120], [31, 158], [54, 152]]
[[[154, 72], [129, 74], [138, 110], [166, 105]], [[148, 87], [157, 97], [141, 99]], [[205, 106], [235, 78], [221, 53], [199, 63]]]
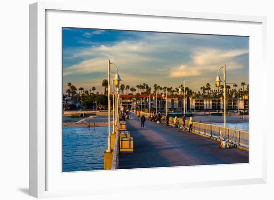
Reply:
[[[153, 99], [154, 96], [154, 99]], [[182, 95], [168, 95], [167, 101], [162, 98], [161, 95], [157, 95], [157, 101], [155, 100], [156, 95], [142, 94], [142, 95], [121, 95], [122, 106], [128, 110], [141, 110], [148, 112], [149, 109], [155, 112], [164, 112], [166, 108], [166, 102], [169, 111], [183, 112], [184, 100]], [[157, 102], [157, 106], [156, 106]], [[205, 99], [205, 98], [191, 98], [186, 97], [185, 107], [187, 111], [222, 111], [224, 109], [224, 100], [220, 99]], [[229, 98], [227, 99], [227, 110], [228, 111], [248, 111], [248, 98]]]

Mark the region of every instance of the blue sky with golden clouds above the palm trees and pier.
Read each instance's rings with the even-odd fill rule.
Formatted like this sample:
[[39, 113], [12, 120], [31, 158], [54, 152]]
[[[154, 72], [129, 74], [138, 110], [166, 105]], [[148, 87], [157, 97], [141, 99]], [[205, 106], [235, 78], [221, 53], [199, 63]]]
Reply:
[[215, 89], [223, 64], [227, 83], [238, 89], [248, 84], [248, 37], [81, 28], [63, 28], [62, 34], [64, 92], [71, 82], [101, 93], [108, 59], [118, 67], [120, 84], [135, 88], [143, 83], [152, 91], [154, 84], [175, 88], [185, 80], [196, 92], [206, 83]]

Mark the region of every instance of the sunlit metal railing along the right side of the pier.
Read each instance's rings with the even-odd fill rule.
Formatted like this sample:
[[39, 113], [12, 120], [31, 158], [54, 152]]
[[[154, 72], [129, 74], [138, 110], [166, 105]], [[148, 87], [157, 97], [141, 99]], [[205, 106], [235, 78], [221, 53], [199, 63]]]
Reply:
[[[141, 114], [144, 114], [145, 116], [149, 116], [149, 113], [141, 112]], [[166, 119], [165, 116], [163, 116], [162, 119]], [[169, 124], [174, 125], [175, 118], [169, 117]], [[182, 119], [178, 118], [179, 124], [182, 125]], [[185, 127], [189, 129], [189, 120], [185, 120]], [[192, 124], [192, 131], [210, 136], [212, 138], [220, 139], [229, 141], [235, 145], [239, 145], [245, 148], [249, 148], [249, 132], [241, 131], [237, 129], [232, 128], [224, 128], [222, 126], [212, 125], [212, 124], [205, 124], [205, 123], [199, 123], [193, 121]], [[220, 132], [222, 132], [222, 135], [220, 135]]]

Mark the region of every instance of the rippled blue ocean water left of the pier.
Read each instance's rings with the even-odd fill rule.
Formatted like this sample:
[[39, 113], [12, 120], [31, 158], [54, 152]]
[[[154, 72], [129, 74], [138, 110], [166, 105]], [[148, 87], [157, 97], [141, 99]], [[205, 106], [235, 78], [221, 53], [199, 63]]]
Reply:
[[63, 127], [63, 172], [103, 170], [108, 127]]

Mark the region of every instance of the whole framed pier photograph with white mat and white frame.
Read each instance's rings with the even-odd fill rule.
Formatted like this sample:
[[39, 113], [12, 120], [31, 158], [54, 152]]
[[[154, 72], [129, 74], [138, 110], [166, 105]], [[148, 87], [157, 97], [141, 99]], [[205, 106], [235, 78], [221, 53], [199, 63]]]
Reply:
[[30, 5], [30, 195], [265, 183], [265, 45], [264, 17]]

